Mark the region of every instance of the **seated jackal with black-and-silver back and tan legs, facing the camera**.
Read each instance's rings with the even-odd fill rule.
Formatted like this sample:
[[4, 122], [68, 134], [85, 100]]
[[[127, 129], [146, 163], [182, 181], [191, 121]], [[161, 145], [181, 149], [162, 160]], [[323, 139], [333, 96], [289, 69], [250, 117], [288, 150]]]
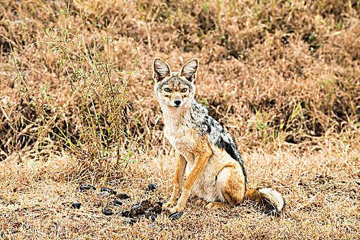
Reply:
[[234, 206], [249, 199], [265, 204], [265, 213], [280, 215], [284, 208], [280, 193], [269, 188], [247, 189], [246, 171], [234, 139], [194, 99], [198, 67], [197, 58], [186, 62], [178, 73], [170, 71], [161, 58], [153, 62], [164, 133], [177, 150], [174, 188], [164, 208], [171, 213], [183, 211], [194, 190], [207, 208]]

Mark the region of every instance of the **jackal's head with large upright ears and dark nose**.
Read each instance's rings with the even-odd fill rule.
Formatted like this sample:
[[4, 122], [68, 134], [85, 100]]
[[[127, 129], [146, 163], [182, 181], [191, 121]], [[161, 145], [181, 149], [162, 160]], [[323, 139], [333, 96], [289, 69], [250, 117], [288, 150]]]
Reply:
[[199, 59], [193, 58], [181, 67], [179, 73], [172, 72], [169, 65], [161, 58], [153, 62], [153, 78], [155, 94], [161, 106], [181, 108], [191, 106], [194, 99]]

